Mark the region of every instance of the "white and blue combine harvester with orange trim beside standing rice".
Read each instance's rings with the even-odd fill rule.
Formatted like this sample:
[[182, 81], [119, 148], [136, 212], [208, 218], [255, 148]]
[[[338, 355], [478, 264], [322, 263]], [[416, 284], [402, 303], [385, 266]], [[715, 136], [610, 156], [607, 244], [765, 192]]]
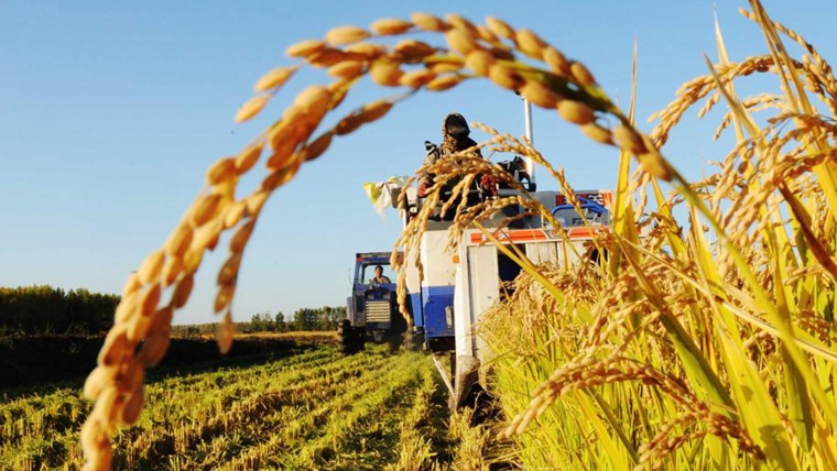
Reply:
[[[531, 109], [526, 103], [526, 134], [531, 140]], [[502, 164], [501, 164], [502, 165]], [[551, 262], [572, 264], [579, 262], [598, 262], [598, 252], [589, 251], [586, 242], [594, 239], [596, 232], [606, 231], [610, 226], [610, 206], [613, 202], [611, 190], [576, 191], [581, 202], [583, 215], [558, 191], [537, 191], [534, 182], [532, 162], [525, 163], [526, 172], [518, 174], [519, 182], [529, 195], [544, 207], [553, 208], [555, 220], [564, 227], [568, 240], [542, 220], [540, 215], [517, 219], [513, 224], [501, 229], [497, 239], [503, 245], [514, 245], [520, 253], [534, 264]], [[525, 182], [525, 183], [524, 183]], [[406, 209], [401, 208], [404, 223], [422, 207], [424, 200], [417, 197], [414, 187], [400, 188], [390, 186], [392, 207], [398, 209], [399, 195], [405, 191]], [[514, 189], [498, 189], [499, 196], [517, 195]], [[481, 221], [485, 228], [493, 232], [503, 227], [510, 216], [519, 215], [522, 208], [507, 207], [491, 219]], [[409, 258], [406, 270], [407, 309], [414, 321], [414, 336], [420, 336], [424, 349], [433, 353], [436, 366], [450, 392], [450, 406], [463, 404], [475, 384], [486, 386], [480, 373], [480, 364], [491, 359], [491, 352], [485, 342], [475, 335], [475, 327], [480, 317], [494, 303], [509, 293], [510, 283], [520, 274], [521, 267], [494, 242], [489, 240], [480, 229], [468, 229], [454, 254], [446, 251], [450, 221], [430, 221], [422, 236], [420, 260], [424, 277]], [[568, 244], [574, 245], [572, 250]], [[580, 260], [588, 254], [590, 260]], [[380, 260], [380, 259], [379, 259]], [[356, 277], [357, 282], [357, 277]], [[356, 285], [357, 288], [357, 285]], [[395, 285], [390, 287], [394, 297]], [[367, 291], [367, 295], [371, 292]], [[351, 303], [351, 302], [350, 302]], [[358, 306], [355, 303], [355, 306]], [[349, 320], [345, 324], [362, 329], [362, 322], [370, 322], [371, 311], [366, 316], [350, 307]], [[399, 314], [394, 308], [391, 316]], [[369, 336], [369, 335], [367, 335]], [[448, 355], [450, 370], [439, 361]]]

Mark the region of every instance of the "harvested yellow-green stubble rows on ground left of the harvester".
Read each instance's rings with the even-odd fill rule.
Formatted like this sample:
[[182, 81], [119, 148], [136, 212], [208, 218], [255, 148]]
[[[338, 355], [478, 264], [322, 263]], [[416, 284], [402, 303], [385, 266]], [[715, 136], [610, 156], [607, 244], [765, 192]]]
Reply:
[[[112, 467], [443, 469], [455, 459], [457, 438], [446, 436], [434, 375], [418, 353], [371, 347], [344, 357], [319, 346], [258, 364], [150, 379], [145, 412], [115, 438]], [[78, 429], [91, 407], [78, 387], [4, 402], [0, 469], [80, 469]]]

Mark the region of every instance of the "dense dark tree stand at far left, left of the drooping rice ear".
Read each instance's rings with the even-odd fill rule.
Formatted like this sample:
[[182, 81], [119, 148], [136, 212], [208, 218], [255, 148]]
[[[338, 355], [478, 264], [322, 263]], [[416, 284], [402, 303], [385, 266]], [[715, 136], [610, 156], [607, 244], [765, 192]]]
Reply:
[[0, 336], [99, 335], [113, 324], [119, 296], [50, 285], [0, 287]]

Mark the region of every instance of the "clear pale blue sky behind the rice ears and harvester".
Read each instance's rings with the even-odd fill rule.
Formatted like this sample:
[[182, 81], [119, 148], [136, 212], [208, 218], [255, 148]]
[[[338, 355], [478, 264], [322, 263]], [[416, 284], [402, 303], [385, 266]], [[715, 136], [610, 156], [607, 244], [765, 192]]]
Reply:
[[[637, 39], [638, 116], [650, 131], [645, 118], [682, 83], [707, 73], [703, 54], [715, 57], [714, 3], [733, 61], [765, 53], [760, 31], [737, 13], [744, 1], [0, 0], [0, 286], [118, 293], [165, 241], [203, 187], [206, 167], [237, 153], [301, 87], [326, 80], [320, 70], [300, 74], [259, 119], [232, 123], [256, 79], [293, 63], [287, 45], [331, 26], [412, 11], [474, 21], [497, 15], [583, 61], [626, 107]], [[827, 59], [837, 56], [837, 2], [764, 3]], [[746, 84], [739, 90], [778, 91], [775, 80]], [[344, 108], [389, 94], [360, 87]], [[401, 227], [394, 212], [381, 219], [373, 211], [361, 185], [414, 172], [423, 142], [438, 141], [452, 111], [523, 132], [519, 99], [474, 83], [413, 98], [387, 120], [336, 140], [269, 201], [242, 264], [233, 315], [246, 320], [345, 304], [354, 253], [389, 250]], [[695, 116], [664, 149], [693, 177], [730, 149], [711, 142], [719, 112], [705, 122]], [[613, 186], [615, 151], [587, 142], [556, 113], [535, 112], [534, 138], [576, 188]], [[176, 324], [214, 320], [222, 248], [206, 260]]]

